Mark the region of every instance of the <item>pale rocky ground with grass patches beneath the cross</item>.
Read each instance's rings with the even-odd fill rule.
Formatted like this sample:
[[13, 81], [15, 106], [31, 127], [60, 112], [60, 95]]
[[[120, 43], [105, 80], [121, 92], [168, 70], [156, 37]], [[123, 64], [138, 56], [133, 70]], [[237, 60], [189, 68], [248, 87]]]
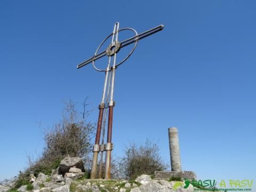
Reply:
[[67, 157], [63, 159], [57, 170], [52, 170], [52, 175], [39, 173], [37, 177], [30, 175], [30, 185], [21, 186], [18, 190], [11, 190], [11, 186], [0, 185], [0, 192], [192, 192], [190, 185], [184, 189], [183, 182], [154, 180], [150, 175], [141, 175], [134, 181], [84, 179], [84, 165], [81, 158]]

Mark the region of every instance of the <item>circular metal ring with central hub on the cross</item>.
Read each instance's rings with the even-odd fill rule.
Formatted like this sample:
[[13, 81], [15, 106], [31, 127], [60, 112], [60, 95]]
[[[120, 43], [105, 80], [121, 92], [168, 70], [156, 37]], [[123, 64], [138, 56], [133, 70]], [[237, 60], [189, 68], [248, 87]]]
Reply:
[[[123, 30], [131, 30], [131, 31], [133, 31], [133, 32], [135, 33], [135, 35], [138, 35], [137, 31], [136, 31], [135, 29], [133, 29], [133, 28], [122, 28], [122, 29], [119, 29], [118, 32], [119, 32], [119, 31], [123, 31]], [[114, 35], [114, 34], [113, 34], [113, 33], [109, 34], [109, 35], [101, 42], [101, 44], [99, 45], [99, 47], [98, 47], [97, 50], [95, 51], [94, 55], [97, 55], [97, 54], [98, 54], [98, 51], [99, 51], [99, 49], [101, 48], [101, 46], [103, 45], [103, 43], [105, 43], [105, 42], [107, 41], [107, 39], [108, 39], [109, 37], [111, 37], [112, 35]], [[116, 68], [117, 68], [119, 65], [121, 65], [124, 61], [126, 61], [126, 60], [131, 56], [131, 54], [133, 53], [133, 51], [135, 50], [135, 48], [136, 48], [136, 46], [137, 46], [137, 42], [138, 42], [138, 41], [135, 41], [134, 46], [133, 46], [131, 52], [130, 52], [121, 62], [119, 62], [119, 63], [116, 65]], [[117, 42], [117, 43], [119, 43], [119, 42]], [[117, 53], [117, 52], [122, 48], [122, 47], [120, 47], [120, 46], [122, 46], [122, 45], [112, 45], [112, 44], [110, 44], [110, 45], [107, 47], [107, 50], [106, 50], [107, 55], [108, 55], [109, 57], [111, 57], [114, 53]], [[94, 68], [95, 70], [97, 70], [97, 71], [106, 71], [106, 69], [104, 69], [104, 70], [103, 70], [103, 69], [98, 69], [98, 68], [94, 65], [94, 61], [92, 61], [92, 65], [93, 65], [93, 68]]]

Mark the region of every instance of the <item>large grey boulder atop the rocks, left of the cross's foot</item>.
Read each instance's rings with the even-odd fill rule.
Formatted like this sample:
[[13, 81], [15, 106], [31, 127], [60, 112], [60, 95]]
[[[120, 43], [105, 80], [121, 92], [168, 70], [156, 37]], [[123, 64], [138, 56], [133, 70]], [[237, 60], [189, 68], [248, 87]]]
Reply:
[[69, 172], [70, 167], [76, 167], [78, 169], [81, 169], [82, 172], [85, 172], [84, 170], [84, 163], [82, 161], [82, 158], [79, 157], [66, 157], [65, 159], [62, 159], [60, 162], [60, 172], [62, 175]]

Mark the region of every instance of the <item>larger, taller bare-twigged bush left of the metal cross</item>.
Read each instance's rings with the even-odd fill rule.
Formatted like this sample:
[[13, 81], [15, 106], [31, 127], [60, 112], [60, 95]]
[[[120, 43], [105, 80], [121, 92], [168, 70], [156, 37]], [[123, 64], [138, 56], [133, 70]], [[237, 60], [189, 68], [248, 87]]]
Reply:
[[88, 115], [89, 111], [84, 111], [83, 117], [79, 118], [75, 103], [67, 102], [61, 121], [44, 133], [45, 147], [42, 155], [36, 160], [28, 157], [28, 168], [18, 175], [15, 188], [27, 185], [31, 173], [36, 177], [40, 172], [51, 175], [51, 170], [57, 169], [61, 159], [66, 156], [83, 158], [85, 167], [89, 169], [95, 124], [86, 121]]

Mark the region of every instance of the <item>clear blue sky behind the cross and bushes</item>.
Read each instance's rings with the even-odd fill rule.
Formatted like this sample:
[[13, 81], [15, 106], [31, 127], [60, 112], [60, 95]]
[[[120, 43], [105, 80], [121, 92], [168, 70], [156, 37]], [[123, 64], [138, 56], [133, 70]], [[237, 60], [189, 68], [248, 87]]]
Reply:
[[140, 41], [117, 70], [114, 153], [150, 138], [170, 161], [167, 128], [177, 126], [183, 170], [256, 185], [255, 6], [249, 0], [1, 1], [0, 179], [22, 170], [26, 154], [41, 153], [42, 129], [59, 121], [64, 101], [79, 107], [89, 96], [90, 119], [97, 121], [104, 74], [76, 65], [119, 21], [139, 33], [165, 28]]

